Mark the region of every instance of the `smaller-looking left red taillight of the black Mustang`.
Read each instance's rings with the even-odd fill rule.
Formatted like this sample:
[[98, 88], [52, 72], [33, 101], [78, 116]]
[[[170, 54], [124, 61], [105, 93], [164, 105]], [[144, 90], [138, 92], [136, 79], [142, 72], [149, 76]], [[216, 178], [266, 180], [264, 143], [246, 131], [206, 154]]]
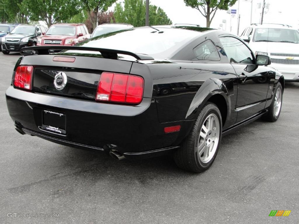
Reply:
[[33, 66], [21, 65], [16, 68], [13, 85], [18, 88], [31, 90]]

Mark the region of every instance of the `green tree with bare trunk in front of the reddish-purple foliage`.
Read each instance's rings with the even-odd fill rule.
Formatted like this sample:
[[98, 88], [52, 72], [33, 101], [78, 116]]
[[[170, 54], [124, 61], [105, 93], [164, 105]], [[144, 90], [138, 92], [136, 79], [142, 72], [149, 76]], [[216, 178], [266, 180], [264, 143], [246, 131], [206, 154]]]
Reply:
[[80, 0], [83, 9], [88, 13], [93, 29], [97, 27], [98, 14], [106, 12], [117, 0]]

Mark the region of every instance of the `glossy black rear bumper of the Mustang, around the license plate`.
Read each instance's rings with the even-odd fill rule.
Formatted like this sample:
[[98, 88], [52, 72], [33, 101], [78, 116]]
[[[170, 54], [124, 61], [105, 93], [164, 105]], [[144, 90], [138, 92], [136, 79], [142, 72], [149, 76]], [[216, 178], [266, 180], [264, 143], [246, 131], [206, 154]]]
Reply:
[[[109, 150], [113, 146], [126, 158], [153, 157], [177, 148], [193, 124], [193, 121], [159, 123], [156, 103], [150, 98], [144, 98], [137, 106], [114, 105], [10, 86], [6, 101], [11, 118], [26, 134], [75, 148]], [[41, 128], [45, 109], [65, 113], [65, 135]], [[181, 125], [181, 131], [164, 133], [164, 127], [175, 125]]]

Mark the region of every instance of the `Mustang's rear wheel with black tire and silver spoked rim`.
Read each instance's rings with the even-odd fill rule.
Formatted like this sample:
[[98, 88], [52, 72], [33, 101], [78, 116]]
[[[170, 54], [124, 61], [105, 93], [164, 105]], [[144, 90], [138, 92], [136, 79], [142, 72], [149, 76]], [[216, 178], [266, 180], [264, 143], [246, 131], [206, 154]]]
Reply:
[[221, 113], [215, 104], [207, 102], [181, 147], [174, 153], [176, 165], [195, 173], [207, 170], [216, 158], [221, 134]]

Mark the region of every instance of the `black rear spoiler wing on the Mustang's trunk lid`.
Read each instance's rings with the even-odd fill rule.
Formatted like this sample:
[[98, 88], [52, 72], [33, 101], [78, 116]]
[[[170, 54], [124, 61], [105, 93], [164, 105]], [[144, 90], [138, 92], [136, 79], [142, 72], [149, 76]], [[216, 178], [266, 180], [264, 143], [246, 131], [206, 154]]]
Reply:
[[36, 54], [49, 54], [59, 53], [62, 50], [86, 50], [86, 51], [97, 51], [102, 54], [104, 58], [117, 59], [117, 54], [130, 55], [137, 60], [154, 60], [147, 54], [132, 53], [123, 50], [104, 49], [97, 47], [77, 47], [77, 46], [36, 46], [36, 47], [24, 47], [20, 50], [22, 55], [36, 55]]

